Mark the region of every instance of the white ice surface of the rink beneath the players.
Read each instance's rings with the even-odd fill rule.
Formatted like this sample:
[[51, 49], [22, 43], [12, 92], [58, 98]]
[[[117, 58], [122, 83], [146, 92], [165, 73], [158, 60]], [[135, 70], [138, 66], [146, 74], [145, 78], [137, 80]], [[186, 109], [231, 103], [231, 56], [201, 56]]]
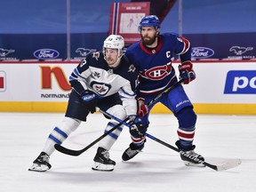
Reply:
[[[242, 164], [225, 172], [188, 167], [180, 154], [148, 139], [143, 153], [129, 162], [121, 156], [131, 142], [128, 128], [110, 150], [114, 172], [92, 171], [98, 145], [81, 156], [55, 151], [48, 172], [28, 172], [62, 113], [0, 113], [0, 191], [58, 192], [254, 192], [256, 188], [256, 117], [198, 115], [196, 152], [205, 162], [223, 164], [240, 158]], [[107, 123], [93, 114], [63, 143], [81, 149], [103, 134]], [[148, 133], [175, 146], [177, 121], [172, 115], [151, 115]]]

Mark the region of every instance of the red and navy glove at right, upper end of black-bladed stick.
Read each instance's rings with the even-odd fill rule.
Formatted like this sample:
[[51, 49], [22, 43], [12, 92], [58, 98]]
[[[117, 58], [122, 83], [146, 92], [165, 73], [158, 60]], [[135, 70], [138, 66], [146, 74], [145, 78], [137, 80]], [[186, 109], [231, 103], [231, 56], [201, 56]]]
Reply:
[[185, 61], [179, 66], [180, 79], [184, 79], [184, 84], [189, 84], [196, 78], [191, 61]]

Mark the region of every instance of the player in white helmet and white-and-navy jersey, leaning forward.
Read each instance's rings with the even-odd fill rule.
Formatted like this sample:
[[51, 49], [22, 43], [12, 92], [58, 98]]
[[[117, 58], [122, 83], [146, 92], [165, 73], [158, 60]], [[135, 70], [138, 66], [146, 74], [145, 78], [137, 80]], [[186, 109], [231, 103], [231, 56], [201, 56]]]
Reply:
[[[72, 91], [66, 115], [62, 123], [50, 133], [43, 151], [28, 169], [29, 171], [49, 170], [52, 167], [49, 158], [55, 150], [54, 145], [60, 145], [66, 140], [82, 121], [86, 121], [86, 116], [90, 112], [95, 112], [96, 107], [123, 120], [127, 116], [131, 119], [135, 118], [137, 112], [135, 88], [139, 72], [125, 58], [123, 52], [124, 38], [116, 35], [108, 36], [103, 44], [103, 52], [92, 52], [74, 69], [69, 76]], [[116, 122], [110, 120], [105, 132], [115, 125]], [[108, 172], [114, 170], [116, 162], [109, 158], [108, 150], [113, 146], [122, 129], [123, 126], [120, 126], [100, 140], [92, 170]]]

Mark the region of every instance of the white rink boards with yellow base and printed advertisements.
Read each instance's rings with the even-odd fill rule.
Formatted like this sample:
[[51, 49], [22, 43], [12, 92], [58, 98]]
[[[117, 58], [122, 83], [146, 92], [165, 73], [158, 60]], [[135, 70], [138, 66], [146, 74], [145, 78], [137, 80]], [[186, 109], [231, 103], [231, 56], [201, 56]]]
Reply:
[[[65, 112], [68, 76], [76, 61], [0, 62], [0, 111]], [[256, 61], [193, 61], [196, 80], [184, 85], [198, 114], [256, 115]], [[177, 70], [178, 62], [173, 62]], [[170, 113], [156, 104], [154, 113]]]

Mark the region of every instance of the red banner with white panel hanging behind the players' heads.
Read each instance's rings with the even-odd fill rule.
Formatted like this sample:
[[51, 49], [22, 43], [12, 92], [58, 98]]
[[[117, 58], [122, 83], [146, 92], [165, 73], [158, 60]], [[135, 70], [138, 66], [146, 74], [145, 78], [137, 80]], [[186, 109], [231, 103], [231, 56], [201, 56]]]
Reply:
[[124, 37], [125, 44], [140, 40], [140, 20], [149, 14], [150, 2], [111, 4], [108, 34]]

